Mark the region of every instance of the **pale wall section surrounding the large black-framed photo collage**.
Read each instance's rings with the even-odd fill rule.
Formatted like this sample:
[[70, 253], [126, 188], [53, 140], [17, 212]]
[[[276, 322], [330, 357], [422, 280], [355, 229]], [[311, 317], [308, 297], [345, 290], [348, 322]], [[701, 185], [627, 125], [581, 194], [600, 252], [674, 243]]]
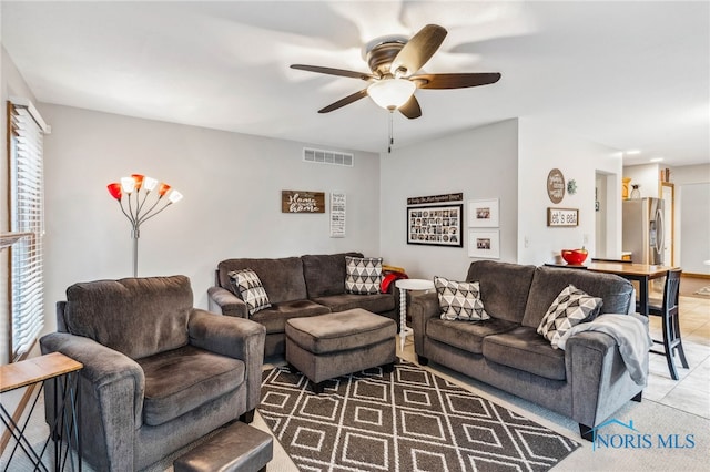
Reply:
[[509, 120], [382, 154], [381, 247], [386, 263], [404, 267], [410, 277], [462, 280], [473, 260], [466, 218], [463, 248], [406, 243], [408, 197], [458, 192], [464, 202], [500, 199], [500, 260], [516, 260], [517, 129], [517, 120]]

